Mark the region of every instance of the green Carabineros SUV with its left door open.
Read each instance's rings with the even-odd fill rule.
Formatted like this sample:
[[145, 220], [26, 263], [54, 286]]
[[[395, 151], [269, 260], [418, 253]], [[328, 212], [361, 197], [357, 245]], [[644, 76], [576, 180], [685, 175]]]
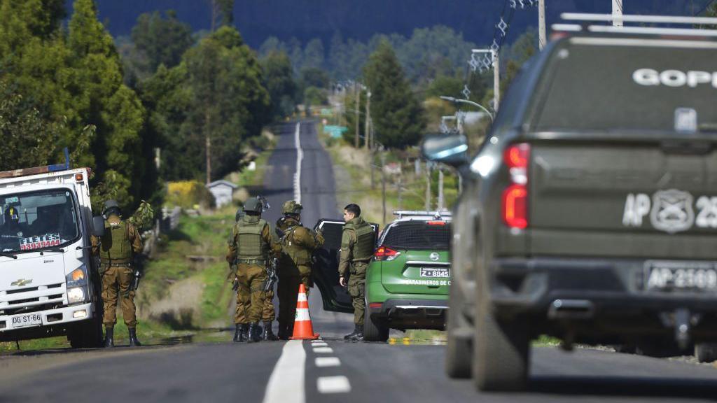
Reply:
[[[386, 341], [389, 328], [446, 326], [450, 288], [449, 212], [395, 212], [397, 219], [377, 237], [366, 272], [365, 341]], [[326, 242], [315, 252], [314, 281], [324, 310], [353, 312], [351, 297], [338, 285], [339, 220], [316, 225]], [[374, 229], [378, 229], [374, 225]]]

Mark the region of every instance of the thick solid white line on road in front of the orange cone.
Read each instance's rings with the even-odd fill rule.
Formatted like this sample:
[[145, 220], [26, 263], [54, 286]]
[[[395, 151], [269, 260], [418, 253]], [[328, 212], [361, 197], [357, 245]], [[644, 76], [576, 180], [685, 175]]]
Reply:
[[305, 403], [306, 352], [300, 340], [284, 345], [264, 394], [264, 403]]

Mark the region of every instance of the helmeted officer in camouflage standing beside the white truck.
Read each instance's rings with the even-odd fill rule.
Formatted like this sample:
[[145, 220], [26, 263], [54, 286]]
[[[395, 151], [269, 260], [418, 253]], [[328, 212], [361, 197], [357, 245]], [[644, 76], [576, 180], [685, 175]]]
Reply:
[[105, 201], [105, 234], [92, 237], [92, 252], [100, 257], [102, 300], [105, 315], [105, 347], [114, 346], [114, 328], [117, 323], [117, 300], [130, 333], [130, 346], [141, 346], [137, 340], [137, 316], [134, 303], [133, 255], [142, 251], [142, 238], [137, 229], [122, 219], [117, 201]]

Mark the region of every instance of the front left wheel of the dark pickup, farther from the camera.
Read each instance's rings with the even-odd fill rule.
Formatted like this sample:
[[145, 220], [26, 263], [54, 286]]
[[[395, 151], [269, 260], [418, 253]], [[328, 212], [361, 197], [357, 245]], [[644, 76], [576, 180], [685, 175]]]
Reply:
[[467, 323], [461, 311], [465, 302], [460, 298], [457, 290], [454, 291], [455, 287], [454, 285], [450, 289], [447, 316], [446, 375], [451, 378], [467, 379], [470, 378], [473, 335], [470, 324]]

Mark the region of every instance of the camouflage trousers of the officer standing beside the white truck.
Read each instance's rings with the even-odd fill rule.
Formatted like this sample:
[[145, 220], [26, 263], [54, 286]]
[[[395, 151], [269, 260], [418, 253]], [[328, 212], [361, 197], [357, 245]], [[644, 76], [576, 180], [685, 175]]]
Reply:
[[130, 290], [134, 270], [127, 266], [110, 266], [102, 274], [102, 300], [105, 309], [103, 323], [107, 327], [117, 323], [117, 300], [120, 300], [122, 317], [128, 328], [137, 326], [134, 290]]

